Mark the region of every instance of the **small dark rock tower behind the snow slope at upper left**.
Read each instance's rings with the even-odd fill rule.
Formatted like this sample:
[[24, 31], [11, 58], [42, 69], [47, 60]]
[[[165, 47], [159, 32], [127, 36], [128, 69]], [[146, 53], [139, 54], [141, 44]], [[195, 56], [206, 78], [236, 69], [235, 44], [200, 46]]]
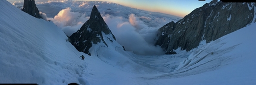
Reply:
[[36, 18], [42, 18], [39, 14], [38, 8], [36, 7], [35, 0], [24, 0], [22, 11]]

